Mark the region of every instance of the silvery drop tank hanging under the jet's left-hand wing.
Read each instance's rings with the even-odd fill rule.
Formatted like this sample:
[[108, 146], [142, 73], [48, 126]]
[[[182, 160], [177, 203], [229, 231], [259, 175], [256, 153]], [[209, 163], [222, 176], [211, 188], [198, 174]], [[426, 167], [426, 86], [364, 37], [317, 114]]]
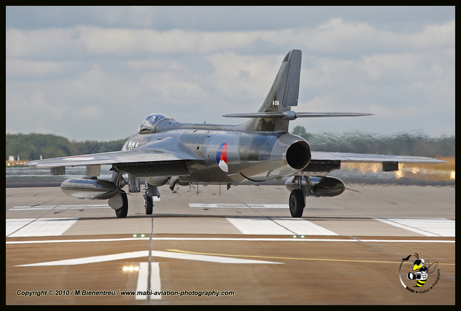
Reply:
[[61, 190], [68, 196], [79, 199], [105, 200], [116, 196], [117, 185], [110, 180], [96, 178], [72, 178], [64, 180]]

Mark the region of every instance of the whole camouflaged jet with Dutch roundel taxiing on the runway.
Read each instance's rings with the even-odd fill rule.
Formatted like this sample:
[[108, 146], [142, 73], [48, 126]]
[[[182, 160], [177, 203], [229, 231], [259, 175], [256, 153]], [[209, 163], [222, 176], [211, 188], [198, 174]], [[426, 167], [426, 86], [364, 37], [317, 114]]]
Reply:
[[[117, 217], [128, 213], [130, 192], [140, 192], [139, 179], [146, 180], [146, 214], [153, 213], [158, 186], [192, 182], [255, 184], [288, 177], [292, 217], [301, 217], [307, 196], [338, 196], [344, 183], [326, 176], [341, 162], [382, 163], [384, 171], [398, 170], [398, 163], [443, 163], [426, 157], [389, 156], [311, 151], [306, 140], [290, 134], [290, 120], [298, 117], [364, 116], [364, 113], [296, 113], [301, 51], [293, 49], [283, 59], [272, 87], [256, 113], [223, 115], [250, 118], [240, 125], [181, 123], [166, 115], [148, 115], [121, 151], [36, 160], [29, 166], [50, 167], [51, 174], [64, 175], [66, 166], [86, 165], [86, 176], [63, 181], [62, 191], [73, 197], [108, 199]], [[111, 180], [98, 179], [101, 165], [112, 165]], [[123, 179], [128, 175], [128, 182]]]

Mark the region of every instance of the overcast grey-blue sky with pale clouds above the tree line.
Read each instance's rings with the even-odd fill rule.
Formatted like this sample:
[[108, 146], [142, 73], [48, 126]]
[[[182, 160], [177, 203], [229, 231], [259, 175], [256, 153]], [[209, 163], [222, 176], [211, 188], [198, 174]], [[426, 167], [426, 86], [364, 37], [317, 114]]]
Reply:
[[6, 7], [6, 132], [115, 140], [152, 113], [239, 124], [303, 52], [307, 131], [455, 133], [455, 7]]

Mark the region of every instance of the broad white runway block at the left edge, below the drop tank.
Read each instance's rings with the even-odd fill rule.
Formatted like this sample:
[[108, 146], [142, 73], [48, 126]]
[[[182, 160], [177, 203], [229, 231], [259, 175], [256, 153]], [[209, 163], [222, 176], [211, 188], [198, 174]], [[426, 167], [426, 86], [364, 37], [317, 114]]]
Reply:
[[[22, 226], [20, 226], [22, 219], [6, 219], [6, 233], [9, 237], [61, 235], [72, 227], [78, 219], [79, 218], [29, 218], [23, 221]], [[10, 230], [10, 234], [8, 234], [8, 230]]]

